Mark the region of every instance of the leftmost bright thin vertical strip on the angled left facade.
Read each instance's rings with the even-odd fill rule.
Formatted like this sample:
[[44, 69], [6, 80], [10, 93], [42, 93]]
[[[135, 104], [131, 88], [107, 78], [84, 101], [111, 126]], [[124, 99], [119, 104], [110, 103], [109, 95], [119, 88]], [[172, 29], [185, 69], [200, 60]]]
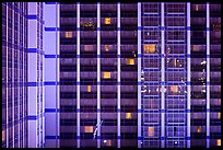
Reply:
[[[8, 20], [9, 20], [9, 18], [8, 18], [8, 4], [7, 4], [8, 2], [5, 2], [5, 8], [7, 8], [7, 44], [8, 44], [8, 30], [9, 30], [9, 26], [8, 26]], [[7, 135], [5, 135], [5, 139], [7, 139], [7, 148], [9, 148], [9, 109], [8, 109], [8, 107], [9, 107], [9, 99], [8, 99], [8, 90], [9, 90], [9, 81], [8, 81], [8, 77], [9, 77], [9, 74], [8, 74], [8, 68], [9, 68], [9, 66], [8, 66], [8, 46], [5, 46], [7, 47], [7, 79], [5, 79], [5, 81], [7, 81], [7, 85], [5, 85], [5, 88], [7, 88], [7, 128], [5, 128], [5, 132], [7, 132]]]

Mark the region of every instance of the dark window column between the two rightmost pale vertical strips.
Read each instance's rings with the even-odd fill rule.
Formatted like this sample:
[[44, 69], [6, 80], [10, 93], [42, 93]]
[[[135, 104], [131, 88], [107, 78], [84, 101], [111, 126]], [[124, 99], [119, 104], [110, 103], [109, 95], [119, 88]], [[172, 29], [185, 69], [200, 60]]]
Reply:
[[[191, 3], [191, 147], [207, 145], [207, 4]], [[198, 20], [198, 21], [196, 21]], [[193, 101], [199, 103], [193, 103]], [[203, 112], [203, 113], [202, 113]], [[198, 115], [202, 113], [202, 116]]]

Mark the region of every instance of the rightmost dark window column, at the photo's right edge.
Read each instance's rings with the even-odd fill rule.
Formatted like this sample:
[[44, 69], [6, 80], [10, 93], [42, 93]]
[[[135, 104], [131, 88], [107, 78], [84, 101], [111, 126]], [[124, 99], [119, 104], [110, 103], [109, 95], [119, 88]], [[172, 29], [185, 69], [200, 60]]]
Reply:
[[210, 3], [210, 147], [221, 146], [221, 5]]

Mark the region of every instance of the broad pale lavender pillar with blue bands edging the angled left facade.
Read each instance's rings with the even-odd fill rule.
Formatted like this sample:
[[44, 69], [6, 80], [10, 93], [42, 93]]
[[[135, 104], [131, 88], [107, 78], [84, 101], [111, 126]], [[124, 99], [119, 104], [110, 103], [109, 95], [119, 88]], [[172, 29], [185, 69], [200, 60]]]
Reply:
[[28, 148], [43, 148], [45, 142], [43, 5], [27, 3]]

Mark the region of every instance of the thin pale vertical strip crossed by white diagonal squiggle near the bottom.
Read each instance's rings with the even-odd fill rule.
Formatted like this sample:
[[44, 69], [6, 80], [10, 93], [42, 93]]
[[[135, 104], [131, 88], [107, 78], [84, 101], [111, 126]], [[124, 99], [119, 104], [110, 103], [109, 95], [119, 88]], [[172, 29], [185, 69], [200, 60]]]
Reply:
[[[101, 4], [97, 2], [97, 148], [101, 148]], [[99, 109], [99, 112], [98, 112]]]

